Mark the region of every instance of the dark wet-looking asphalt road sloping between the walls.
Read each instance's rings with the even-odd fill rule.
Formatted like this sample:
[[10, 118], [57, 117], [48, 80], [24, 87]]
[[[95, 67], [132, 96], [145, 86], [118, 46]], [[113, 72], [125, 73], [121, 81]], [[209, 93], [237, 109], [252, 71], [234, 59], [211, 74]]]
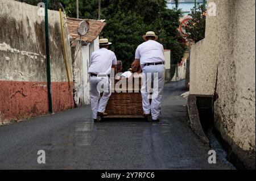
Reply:
[[166, 83], [160, 123], [93, 123], [84, 106], [0, 127], [0, 169], [230, 169], [208, 163], [209, 148], [188, 126], [183, 92], [184, 81]]

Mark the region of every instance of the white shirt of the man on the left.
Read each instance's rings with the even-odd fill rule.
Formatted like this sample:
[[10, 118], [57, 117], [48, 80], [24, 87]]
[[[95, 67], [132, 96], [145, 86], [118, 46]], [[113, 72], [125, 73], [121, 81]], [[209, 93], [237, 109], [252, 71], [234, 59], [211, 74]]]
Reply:
[[112, 65], [117, 65], [115, 53], [106, 48], [96, 50], [90, 56], [88, 72], [94, 74], [110, 74]]

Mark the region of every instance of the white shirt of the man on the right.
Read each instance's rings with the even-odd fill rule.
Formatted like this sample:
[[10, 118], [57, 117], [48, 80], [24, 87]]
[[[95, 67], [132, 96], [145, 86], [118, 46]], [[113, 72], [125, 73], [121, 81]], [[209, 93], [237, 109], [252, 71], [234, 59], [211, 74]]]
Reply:
[[137, 47], [135, 58], [140, 59], [142, 66], [146, 63], [164, 62], [163, 45], [154, 40], [145, 41]]

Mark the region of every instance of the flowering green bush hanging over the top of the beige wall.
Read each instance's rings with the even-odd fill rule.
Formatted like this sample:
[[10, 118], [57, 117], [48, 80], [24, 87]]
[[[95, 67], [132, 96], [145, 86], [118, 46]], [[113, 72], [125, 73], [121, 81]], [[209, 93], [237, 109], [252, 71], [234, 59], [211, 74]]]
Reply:
[[189, 39], [191, 41], [203, 40], [205, 37], [205, 22], [206, 22], [206, 9], [205, 5], [197, 5], [196, 9], [192, 9], [192, 20], [189, 21], [186, 32], [189, 33]]

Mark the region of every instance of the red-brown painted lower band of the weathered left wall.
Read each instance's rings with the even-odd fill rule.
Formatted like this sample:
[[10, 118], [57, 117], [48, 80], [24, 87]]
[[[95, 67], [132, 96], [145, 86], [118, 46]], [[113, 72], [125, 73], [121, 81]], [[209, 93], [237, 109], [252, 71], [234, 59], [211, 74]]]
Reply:
[[[73, 83], [52, 82], [53, 111], [74, 107]], [[0, 119], [19, 120], [48, 113], [47, 82], [0, 81]]]

